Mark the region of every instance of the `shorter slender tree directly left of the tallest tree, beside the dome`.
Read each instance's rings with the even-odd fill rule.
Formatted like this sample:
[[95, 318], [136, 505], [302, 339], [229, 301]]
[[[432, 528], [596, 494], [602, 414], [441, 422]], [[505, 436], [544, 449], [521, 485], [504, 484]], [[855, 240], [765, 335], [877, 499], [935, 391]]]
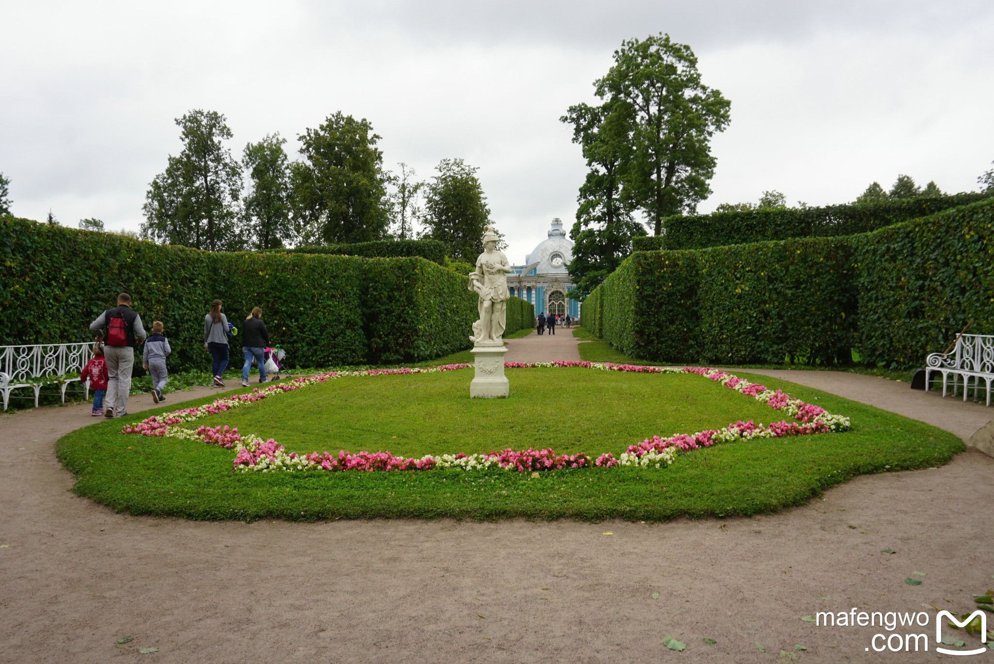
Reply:
[[626, 110], [626, 106], [612, 108], [610, 101], [599, 106], [579, 103], [560, 118], [573, 125], [573, 141], [580, 144], [589, 168], [577, 197], [577, 221], [570, 231], [574, 248], [568, 267], [573, 296], [579, 299], [631, 253], [634, 236], [646, 235], [625, 204], [623, 175], [631, 164], [633, 129]]

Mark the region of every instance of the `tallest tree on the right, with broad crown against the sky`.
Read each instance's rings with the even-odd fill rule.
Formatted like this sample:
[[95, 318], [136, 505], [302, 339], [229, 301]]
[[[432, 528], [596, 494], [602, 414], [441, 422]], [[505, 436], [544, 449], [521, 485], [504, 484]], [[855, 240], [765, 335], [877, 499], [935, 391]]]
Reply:
[[628, 106], [634, 119], [627, 185], [658, 236], [663, 218], [693, 212], [711, 193], [711, 138], [729, 125], [732, 102], [701, 83], [689, 46], [663, 34], [623, 42], [594, 84], [597, 96]]

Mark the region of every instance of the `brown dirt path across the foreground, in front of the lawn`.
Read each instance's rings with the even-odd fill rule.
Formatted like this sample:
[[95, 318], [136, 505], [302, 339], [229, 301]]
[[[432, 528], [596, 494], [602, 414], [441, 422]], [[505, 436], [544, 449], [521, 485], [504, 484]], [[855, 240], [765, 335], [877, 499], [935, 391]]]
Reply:
[[[86, 406], [0, 418], [0, 661], [123, 661], [154, 646], [140, 657], [749, 663], [789, 661], [779, 651], [800, 644], [801, 662], [876, 662], [865, 648], [884, 630], [800, 616], [934, 619], [929, 604], [966, 609], [994, 582], [994, 459], [978, 452], [751, 519], [247, 525], [132, 518], [74, 496], [54, 445], [91, 420]], [[114, 645], [124, 635], [130, 651]], [[667, 635], [686, 651], [666, 650]], [[890, 659], [934, 661], [933, 649]]]

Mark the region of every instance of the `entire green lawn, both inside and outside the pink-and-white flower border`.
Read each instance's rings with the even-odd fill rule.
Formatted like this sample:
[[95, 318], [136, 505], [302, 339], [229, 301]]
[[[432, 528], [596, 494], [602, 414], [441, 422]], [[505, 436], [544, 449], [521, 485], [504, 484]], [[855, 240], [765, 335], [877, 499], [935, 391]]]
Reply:
[[[307, 521], [375, 517], [657, 521], [770, 512], [801, 504], [860, 474], [939, 465], [963, 449], [954, 435], [907, 417], [784, 381], [740, 375], [832, 413], [849, 415], [853, 428], [846, 433], [720, 444], [683, 455], [664, 469], [562, 470], [537, 478], [494, 469], [235, 473], [231, 450], [174, 438], [122, 435], [117, 431], [123, 422], [117, 419], [64, 436], [58, 455], [77, 475], [74, 490], [79, 495], [131, 514]], [[506, 441], [514, 447], [546, 443], [562, 451], [599, 453], [617, 452], [652, 433], [693, 431], [724, 426], [740, 416], [756, 417], [756, 408], [762, 421], [774, 414], [747, 397], [693, 376], [509, 370], [512, 398], [480, 402], [467, 398], [470, 376], [469, 371], [459, 371], [341, 379], [274, 397], [212, 423], [222, 419], [238, 423], [244, 432], [273, 435], [301, 451], [336, 450], [340, 441], [352, 451], [389, 446], [395, 452], [417, 454], [471, 451]], [[405, 380], [409, 382], [404, 384]], [[490, 425], [509, 426], [510, 433], [478, 441]], [[389, 445], [379, 444], [388, 439]]]

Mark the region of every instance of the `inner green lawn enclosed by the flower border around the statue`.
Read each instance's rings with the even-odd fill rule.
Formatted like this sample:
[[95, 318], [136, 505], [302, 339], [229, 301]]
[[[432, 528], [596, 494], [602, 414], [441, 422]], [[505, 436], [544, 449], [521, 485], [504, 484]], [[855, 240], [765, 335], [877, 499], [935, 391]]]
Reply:
[[508, 399], [469, 399], [469, 370], [343, 378], [191, 426], [238, 426], [297, 452], [390, 449], [420, 457], [532, 446], [617, 456], [652, 434], [694, 432], [737, 419], [768, 422], [775, 415], [763, 404], [687, 374], [589, 369], [508, 369], [506, 374]]

